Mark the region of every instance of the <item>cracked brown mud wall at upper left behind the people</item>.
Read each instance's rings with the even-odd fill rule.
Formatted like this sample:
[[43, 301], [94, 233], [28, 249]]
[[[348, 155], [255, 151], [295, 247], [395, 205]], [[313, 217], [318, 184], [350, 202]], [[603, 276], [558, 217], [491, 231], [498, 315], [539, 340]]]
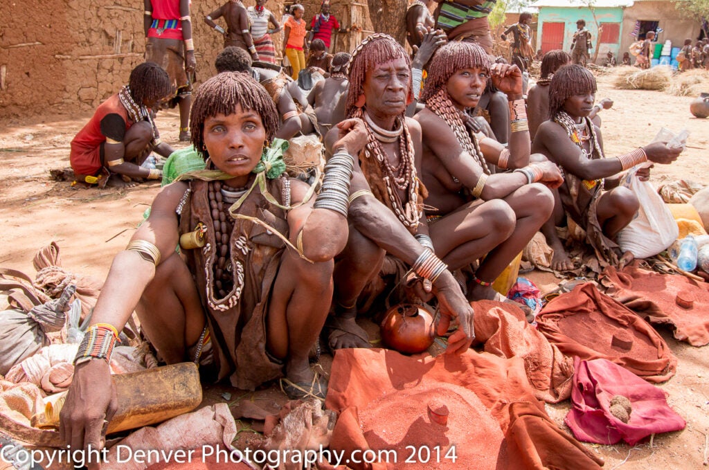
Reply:
[[[224, 1], [193, 1], [197, 82], [211, 77], [223, 47], [203, 18]], [[245, 0], [247, 6], [255, 0]], [[281, 17], [284, 0], [269, 0]], [[88, 112], [143, 62], [143, 2], [6, 0], [0, 26], [0, 119], [46, 111]], [[31, 12], [28, 16], [27, 12]], [[278, 47], [281, 34], [275, 35]]]

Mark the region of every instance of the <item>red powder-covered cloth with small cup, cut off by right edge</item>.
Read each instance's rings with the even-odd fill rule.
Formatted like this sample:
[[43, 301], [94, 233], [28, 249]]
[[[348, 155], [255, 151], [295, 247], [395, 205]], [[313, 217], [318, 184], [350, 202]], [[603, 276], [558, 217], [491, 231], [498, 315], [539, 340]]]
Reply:
[[[653, 325], [674, 326], [674, 337], [692, 346], [709, 344], [709, 284], [679, 274], [660, 274], [638, 267], [618, 272], [608, 267], [601, 275], [610, 283], [608, 295], [623, 303]], [[687, 291], [694, 296], [692, 308], [677, 305], [677, 293]]]

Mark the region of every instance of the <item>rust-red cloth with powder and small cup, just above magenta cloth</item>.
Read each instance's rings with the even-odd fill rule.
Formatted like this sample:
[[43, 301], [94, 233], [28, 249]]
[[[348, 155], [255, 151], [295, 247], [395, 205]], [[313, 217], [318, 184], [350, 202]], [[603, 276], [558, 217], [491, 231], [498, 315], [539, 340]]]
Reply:
[[[547, 303], [537, 323], [547, 340], [567, 356], [608, 359], [653, 383], [674, 376], [677, 358], [657, 331], [591, 283]], [[614, 336], [630, 340], [630, 349], [613, 346]]]

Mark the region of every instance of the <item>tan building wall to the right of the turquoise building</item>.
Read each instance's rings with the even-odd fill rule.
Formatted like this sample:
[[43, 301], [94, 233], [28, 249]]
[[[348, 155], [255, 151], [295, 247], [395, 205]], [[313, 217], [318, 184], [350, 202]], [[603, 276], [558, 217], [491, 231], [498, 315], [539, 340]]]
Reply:
[[657, 42], [664, 43], [669, 39], [672, 47], [682, 47], [685, 39], [691, 39], [695, 43], [700, 34], [699, 22], [688, 19], [676, 9], [674, 1], [635, 1], [623, 12], [625, 33], [620, 38], [620, 57], [623, 57], [623, 52], [627, 52], [628, 47], [637, 41], [637, 38], [630, 35], [636, 21], [659, 21], [658, 26], [663, 31], [659, 33]]

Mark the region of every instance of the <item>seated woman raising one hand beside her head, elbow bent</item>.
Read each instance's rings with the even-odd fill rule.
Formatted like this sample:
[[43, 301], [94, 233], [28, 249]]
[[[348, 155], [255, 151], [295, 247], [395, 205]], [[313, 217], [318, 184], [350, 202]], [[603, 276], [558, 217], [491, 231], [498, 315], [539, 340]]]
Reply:
[[[508, 149], [490, 138], [479, 140], [461, 119], [465, 109], [476, 106], [489, 77], [506, 94], [513, 116]], [[492, 282], [549, 218], [554, 198], [545, 184], [559, 186], [562, 175], [550, 162], [527, 165], [530, 138], [522, 72], [507, 64], [491, 69], [479, 45], [442, 46], [431, 61], [421, 99], [426, 107], [415, 119], [423, 130], [422, 179], [435, 253], [450, 269], [486, 255], [467, 296], [498, 298]], [[489, 163], [515, 171], [490, 174]]]

